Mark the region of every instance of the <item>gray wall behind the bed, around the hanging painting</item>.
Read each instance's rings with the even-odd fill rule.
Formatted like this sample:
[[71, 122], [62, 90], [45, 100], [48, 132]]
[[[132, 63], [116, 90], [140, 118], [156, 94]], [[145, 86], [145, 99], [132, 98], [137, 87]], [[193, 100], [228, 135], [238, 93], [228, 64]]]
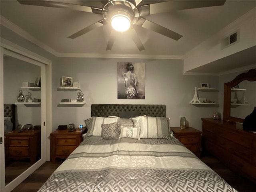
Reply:
[[[146, 94], [144, 100], [117, 99], [117, 63], [144, 62]], [[60, 124], [83, 124], [90, 117], [91, 104], [165, 104], [171, 126], [179, 126], [181, 116], [189, 125], [202, 130], [201, 118], [212, 118], [218, 108], [196, 107], [189, 102], [195, 86], [208, 82], [218, 89], [218, 77], [184, 76], [182, 60], [110, 59], [110, 58], [59, 58], [53, 65], [53, 129]], [[78, 91], [58, 91], [60, 78], [69, 76], [80, 82], [86, 104], [82, 107], [58, 107], [63, 98], [76, 98]], [[200, 97], [216, 100], [218, 92], [200, 92]]]

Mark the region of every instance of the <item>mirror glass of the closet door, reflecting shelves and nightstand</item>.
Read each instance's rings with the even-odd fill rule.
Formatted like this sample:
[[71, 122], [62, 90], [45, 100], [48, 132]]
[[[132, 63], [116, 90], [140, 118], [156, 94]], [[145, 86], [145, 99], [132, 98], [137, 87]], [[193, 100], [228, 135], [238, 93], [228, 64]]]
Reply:
[[[34, 106], [33, 100], [40, 99], [41, 92], [29, 89], [34, 86], [36, 78], [40, 78], [40, 70], [39, 66], [4, 55], [6, 184], [40, 159], [41, 108], [40, 105]], [[24, 105], [23, 102], [18, 102], [21, 88], [22, 94], [25, 96], [23, 102], [31, 102], [31, 104]], [[26, 99], [30, 96], [29, 92], [32, 100]]]

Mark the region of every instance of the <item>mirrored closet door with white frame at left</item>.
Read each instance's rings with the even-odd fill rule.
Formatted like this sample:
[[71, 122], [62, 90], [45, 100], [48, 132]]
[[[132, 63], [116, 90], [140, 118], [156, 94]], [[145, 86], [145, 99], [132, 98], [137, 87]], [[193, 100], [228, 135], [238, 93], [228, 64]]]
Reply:
[[10, 191], [45, 162], [45, 65], [9, 50], [1, 55], [1, 190]]

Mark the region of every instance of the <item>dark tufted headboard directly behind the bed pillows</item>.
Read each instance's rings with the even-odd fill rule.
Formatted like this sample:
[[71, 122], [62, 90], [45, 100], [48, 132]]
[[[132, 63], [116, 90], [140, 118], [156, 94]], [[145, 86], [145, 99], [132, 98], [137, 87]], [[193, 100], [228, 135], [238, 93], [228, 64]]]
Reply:
[[122, 111], [139, 111], [140, 115], [166, 117], [166, 105], [133, 105], [133, 104], [92, 104], [91, 116], [119, 116]]

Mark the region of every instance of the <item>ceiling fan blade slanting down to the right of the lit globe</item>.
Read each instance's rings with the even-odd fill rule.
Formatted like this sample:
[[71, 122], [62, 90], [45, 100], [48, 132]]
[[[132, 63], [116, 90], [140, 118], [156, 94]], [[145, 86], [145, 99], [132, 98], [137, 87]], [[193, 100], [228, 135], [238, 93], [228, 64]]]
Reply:
[[146, 20], [145, 18], [140, 18], [137, 22], [136, 22], [136, 25], [138, 26], [141, 26], [141, 27], [144, 27], [146, 29], [149, 29], [149, 30], [152, 30], [154, 32], [157, 32], [159, 34], [162, 34], [166, 37], [169, 37], [169, 38], [172, 38], [174, 40], [179, 40], [181, 37], [183, 37], [182, 35], [170, 30], [170, 29], [167, 29], [163, 26], [160, 26], [154, 22], [151, 22], [149, 20]]

